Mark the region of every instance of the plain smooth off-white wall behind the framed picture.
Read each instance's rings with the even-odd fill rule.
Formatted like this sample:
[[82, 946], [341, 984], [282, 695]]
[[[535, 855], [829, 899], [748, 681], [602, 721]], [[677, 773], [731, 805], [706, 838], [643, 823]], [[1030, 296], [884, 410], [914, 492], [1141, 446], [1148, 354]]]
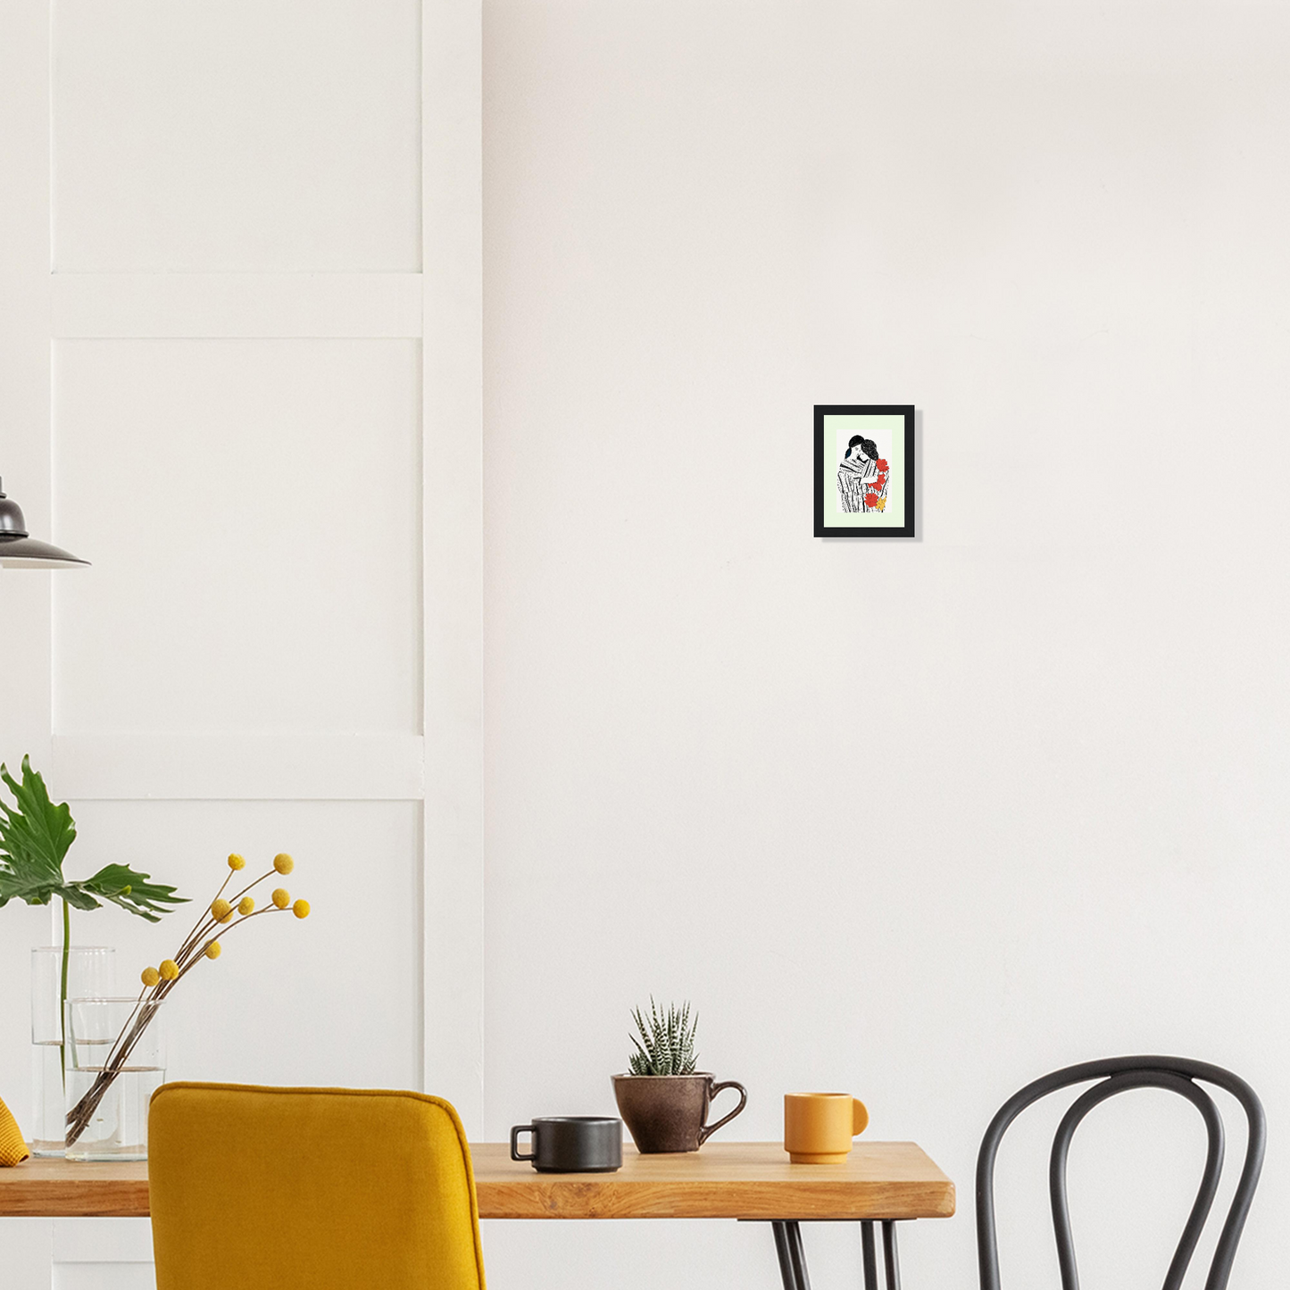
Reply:
[[[725, 1134], [859, 1093], [958, 1184], [907, 1284], [968, 1286], [995, 1107], [1191, 1054], [1267, 1102], [1273, 1282], [1287, 66], [1280, 5], [486, 6], [489, 1136], [609, 1109], [628, 1006], [689, 997]], [[848, 401], [920, 409], [917, 541], [810, 535]], [[1164, 1273], [1157, 1100], [1077, 1143], [1089, 1284]], [[1023, 1142], [1005, 1273], [1055, 1284]], [[497, 1290], [775, 1281], [735, 1224], [486, 1238]]]

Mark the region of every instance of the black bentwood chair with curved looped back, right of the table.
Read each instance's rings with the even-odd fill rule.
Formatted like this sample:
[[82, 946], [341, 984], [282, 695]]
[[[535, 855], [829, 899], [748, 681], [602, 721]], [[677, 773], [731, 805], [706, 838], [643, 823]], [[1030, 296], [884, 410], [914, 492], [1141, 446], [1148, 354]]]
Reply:
[[1249, 1121], [1249, 1135], [1245, 1148], [1245, 1165], [1236, 1184], [1232, 1207], [1227, 1211], [1223, 1231], [1219, 1233], [1214, 1260], [1210, 1263], [1205, 1290], [1224, 1290], [1236, 1256], [1236, 1244], [1241, 1240], [1241, 1228], [1254, 1200], [1254, 1188], [1263, 1169], [1263, 1146], [1267, 1125], [1263, 1107], [1245, 1080], [1205, 1062], [1192, 1062], [1182, 1057], [1115, 1057], [1102, 1062], [1084, 1062], [1068, 1066], [1064, 1071], [1054, 1071], [1033, 1084], [1026, 1085], [1000, 1108], [989, 1122], [982, 1139], [980, 1155], [977, 1157], [977, 1254], [980, 1263], [982, 1290], [1000, 1290], [998, 1286], [998, 1246], [995, 1236], [995, 1156], [1007, 1126], [1031, 1103], [1058, 1089], [1087, 1080], [1100, 1080], [1086, 1089], [1071, 1104], [1062, 1117], [1057, 1136], [1053, 1139], [1053, 1153], [1049, 1157], [1049, 1193], [1053, 1202], [1053, 1228], [1057, 1232], [1057, 1254], [1062, 1268], [1062, 1290], [1078, 1290], [1080, 1276], [1075, 1268], [1075, 1245], [1071, 1238], [1071, 1215], [1066, 1204], [1066, 1158], [1071, 1149], [1071, 1138], [1080, 1121], [1107, 1098], [1124, 1093], [1126, 1089], [1166, 1089], [1187, 1098], [1201, 1113], [1209, 1134], [1209, 1151], [1205, 1157], [1205, 1171], [1201, 1175], [1196, 1202], [1183, 1228], [1182, 1240], [1174, 1251], [1173, 1262], [1165, 1276], [1164, 1290], [1179, 1290], [1187, 1267], [1196, 1250], [1205, 1219], [1209, 1216], [1214, 1195], [1218, 1191], [1219, 1175], [1223, 1173], [1223, 1120], [1214, 1100], [1196, 1080], [1204, 1080], [1215, 1087], [1226, 1089], [1245, 1111]]

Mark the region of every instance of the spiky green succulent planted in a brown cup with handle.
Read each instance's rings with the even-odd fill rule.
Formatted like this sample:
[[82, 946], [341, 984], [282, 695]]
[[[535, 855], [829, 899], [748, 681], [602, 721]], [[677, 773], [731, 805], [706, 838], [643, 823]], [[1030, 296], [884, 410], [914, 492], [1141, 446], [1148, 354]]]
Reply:
[[[659, 1011], [653, 995], [649, 1017], [632, 1009], [636, 1035], [628, 1072], [615, 1075], [614, 1098], [636, 1149], [642, 1155], [670, 1151], [698, 1151], [724, 1124], [734, 1120], [748, 1102], [742, 1084], [713, 1082], [698, 1071], [694, 1036], [698, 1017], [690, 1018], [690, 1005], [670, 1005]], [[707, 1124], [708, 1106], [722, 1089], [739, 1090], [739, 1106], [716, 1124]]]

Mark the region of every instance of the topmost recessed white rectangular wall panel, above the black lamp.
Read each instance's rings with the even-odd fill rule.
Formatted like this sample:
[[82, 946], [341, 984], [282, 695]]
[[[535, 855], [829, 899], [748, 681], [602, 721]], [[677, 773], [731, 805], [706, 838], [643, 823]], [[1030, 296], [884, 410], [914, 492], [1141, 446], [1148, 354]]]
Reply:
[[421, 0], [57, 0], [59, 272], [421, 267]]

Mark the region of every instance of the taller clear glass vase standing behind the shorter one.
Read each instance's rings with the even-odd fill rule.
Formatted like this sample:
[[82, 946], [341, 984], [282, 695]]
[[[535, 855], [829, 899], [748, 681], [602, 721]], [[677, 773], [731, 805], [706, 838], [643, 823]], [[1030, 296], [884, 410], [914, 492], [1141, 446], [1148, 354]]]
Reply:
[[[67, 952], [67, 995], [111, 995], [116, 951], [72, 946]], [[63, 1062], [63, 947], [31, 952], [31, 1153], [63, 1153], [67, 1112]]]

